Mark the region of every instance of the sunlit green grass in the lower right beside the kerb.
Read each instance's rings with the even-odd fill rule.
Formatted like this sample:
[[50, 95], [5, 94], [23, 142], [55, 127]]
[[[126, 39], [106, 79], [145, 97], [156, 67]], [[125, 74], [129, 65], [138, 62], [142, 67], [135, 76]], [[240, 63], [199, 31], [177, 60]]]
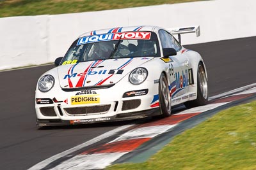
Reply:
[[147, 162], [107, 169], [256, 169], [256, 101], [183, 132]]

